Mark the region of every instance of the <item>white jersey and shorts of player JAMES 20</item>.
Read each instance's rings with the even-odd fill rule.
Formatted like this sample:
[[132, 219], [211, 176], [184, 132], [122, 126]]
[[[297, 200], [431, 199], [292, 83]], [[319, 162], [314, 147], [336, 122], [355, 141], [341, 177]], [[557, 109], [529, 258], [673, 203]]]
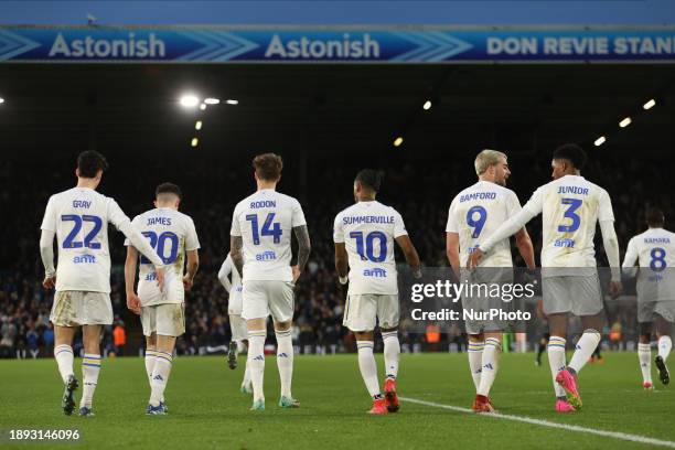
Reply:
[[[147, 211], [133, 217], [131, 223], [157, 250], [167, 269], [162, 292], [154, 268], [146, 257], [140, 257], [138, 297], [143, 334], [179, 336], [185, 332], [185, 251], [200, 248], [194, 223], [190, 216], [171, 207]], [[125, 245], [131, 245], [129, 239]]]

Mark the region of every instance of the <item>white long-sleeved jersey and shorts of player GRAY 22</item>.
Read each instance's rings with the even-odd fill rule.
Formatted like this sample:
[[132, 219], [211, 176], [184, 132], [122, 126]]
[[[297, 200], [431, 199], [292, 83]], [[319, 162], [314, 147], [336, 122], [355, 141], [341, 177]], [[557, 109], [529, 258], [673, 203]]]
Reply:
[[[50, 197], [41, 228], [55, 233], [58, 247], [56, 294], [50, 318], [54, 324], [113, 323], [109, 223], [143, 244], [115, 200], [93, 189], [73, 188]], [[141, 245], [140, 250], [162, 266], [149, 245]]]

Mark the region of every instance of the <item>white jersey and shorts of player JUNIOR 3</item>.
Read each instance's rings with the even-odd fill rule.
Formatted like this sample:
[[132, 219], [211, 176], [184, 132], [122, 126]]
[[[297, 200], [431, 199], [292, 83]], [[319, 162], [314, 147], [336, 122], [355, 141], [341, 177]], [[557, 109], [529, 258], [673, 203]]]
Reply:
[[[607, 191], [579, 175], [565, 175], [535, 191], [513, 219], [480, 245], [492, 248], [505, 236], [542, 214], [542, 277], [544, 312], [593, 315], [602, 310], [593, 237], [598, 222], [603, 238], [613, 234], [614, 214]], [[618, 267], [618, 254], [608, 253]], [[614, 277], [614, 275], [612, 275]]]

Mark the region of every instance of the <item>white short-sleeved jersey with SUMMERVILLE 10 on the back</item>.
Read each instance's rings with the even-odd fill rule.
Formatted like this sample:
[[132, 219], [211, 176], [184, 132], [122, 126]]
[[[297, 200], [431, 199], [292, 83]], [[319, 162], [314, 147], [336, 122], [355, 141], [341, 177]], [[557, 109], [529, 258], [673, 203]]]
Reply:
[[407, 235], [400, 214], [379, 202], [358, 202], [335, 216], [333, 242], [344, 243], [350, 294], [398, 293], [394, 239]]

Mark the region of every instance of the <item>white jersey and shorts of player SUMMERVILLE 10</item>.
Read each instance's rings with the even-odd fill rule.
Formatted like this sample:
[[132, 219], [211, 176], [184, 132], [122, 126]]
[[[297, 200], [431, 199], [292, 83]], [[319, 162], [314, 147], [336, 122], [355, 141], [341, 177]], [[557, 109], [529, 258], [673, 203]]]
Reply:
[[343, 324], [352, 331], [398, 326], [395, 239], [407, 235], [400, 214], [377, 201], [358, 202], [335, 216], [333, 242], [344, 243], [350, 287]]

